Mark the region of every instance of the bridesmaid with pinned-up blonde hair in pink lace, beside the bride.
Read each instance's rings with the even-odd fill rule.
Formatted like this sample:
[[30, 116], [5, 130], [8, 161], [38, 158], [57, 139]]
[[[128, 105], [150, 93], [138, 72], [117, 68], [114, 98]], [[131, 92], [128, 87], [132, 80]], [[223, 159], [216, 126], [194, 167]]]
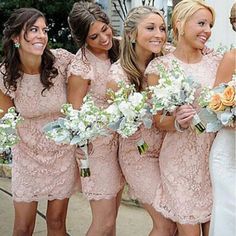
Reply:
[[[203, 56], [201, 49], [211, 35], [214, 15], [214, 10], [201, 0], [183, 0], [175, 7], [172, 26], [176, 49], [150, 62], [145, 72], [149, 84], [158, 82], [158, 64], [171, 68], [175, 60], [201, 86], [213, 86], [220, 58]], [[196, 109], [194, 102], [192, 106], [179, 107], [176, 117], [166, 116], [162, 122], [156, 117], [157, 127], [169, 132], [160, 153], [163, 192], [157, 192], [153, 206], [177, 222], [180, 236], [200, 236], [201, 224], [202, 235], [208, 235], [212, 209], [208, 158], [214, 134], [199, 135], [191, 129]]]

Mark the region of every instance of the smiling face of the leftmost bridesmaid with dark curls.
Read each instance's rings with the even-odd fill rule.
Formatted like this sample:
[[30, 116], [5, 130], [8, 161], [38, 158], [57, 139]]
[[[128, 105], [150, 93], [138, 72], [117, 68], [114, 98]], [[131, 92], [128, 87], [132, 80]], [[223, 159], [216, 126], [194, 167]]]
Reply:
[[41, 56], [48, 43], [48, 27], [44, 18], [38, 18], [27, 32], [23, 29], [14, 40], [14, 42], [16, 41], [20, 43], [20, 55]]

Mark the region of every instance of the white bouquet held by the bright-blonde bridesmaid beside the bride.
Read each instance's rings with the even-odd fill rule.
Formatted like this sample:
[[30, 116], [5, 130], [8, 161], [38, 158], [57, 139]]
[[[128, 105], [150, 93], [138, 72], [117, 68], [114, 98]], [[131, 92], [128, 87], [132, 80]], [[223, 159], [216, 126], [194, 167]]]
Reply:
[[[158, 65], [158, 71], [160, 73], [159, 84], [149, 87], [152, 93], [152, 114], [163, 111], [165, 116], [178, 106], [193, 103], [198, 84], [185, 75], [176, 61], [172, 62], [170, 70], [166, 69], [164, 65]], [[205, 130], [197, 114], [193, 117], [193, 124], [198, 132], [202, 133]]]

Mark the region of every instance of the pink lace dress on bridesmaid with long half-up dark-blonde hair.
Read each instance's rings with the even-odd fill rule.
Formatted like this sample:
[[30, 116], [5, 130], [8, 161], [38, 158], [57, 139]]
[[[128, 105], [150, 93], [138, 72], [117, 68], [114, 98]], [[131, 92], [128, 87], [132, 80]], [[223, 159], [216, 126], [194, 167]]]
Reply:
[[[111, 66], [109, 79], [129, 83], [125, 71], [119, 61]], [[119, 162], [129, 185], [130, 196], [142, 203], [152, 204], [157, 189], [161, 187], [159, 153], [165, 132], [152, 127], [140, 129], [129, 138], [119, 137]], [[145, 154], [140, 155], [137, 142], [140, 139], [148, 144]]]

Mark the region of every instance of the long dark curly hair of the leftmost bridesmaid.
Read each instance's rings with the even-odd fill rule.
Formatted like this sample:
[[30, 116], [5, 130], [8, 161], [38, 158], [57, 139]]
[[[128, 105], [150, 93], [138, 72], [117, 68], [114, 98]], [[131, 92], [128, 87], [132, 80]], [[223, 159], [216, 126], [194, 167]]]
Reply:
[[[4, 86], [7, 91], [17, 89], [17, 81], [22, 78], [24, 71], [21, 70], [21, 59], [18, 49], [15, 48], [13, 38], [19, 36], [24, 30], [24, 39], [27, 40], [27, 32], [38, 18], [46, 19], [42, 12], [34, 8], [19, 8], [15, 10], [4, 24], [3, 30], [3, 61], [0, 65], [3, 74]], [[40, 69], [40, 81], [44, 90], [53, 86], [52, 79], [58, 75], [57, 69], [53, 66], [55, 57], [48, 48], [45, 48]]]

